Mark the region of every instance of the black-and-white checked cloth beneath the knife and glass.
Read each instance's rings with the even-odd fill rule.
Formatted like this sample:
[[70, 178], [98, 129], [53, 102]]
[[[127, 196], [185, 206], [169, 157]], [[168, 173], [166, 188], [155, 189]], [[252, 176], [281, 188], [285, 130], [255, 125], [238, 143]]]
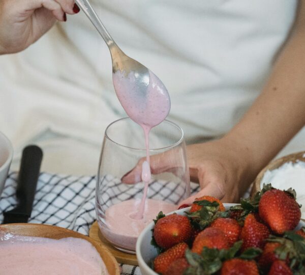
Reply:
[[[16, 204], [16, 187], [18, 174], [9, 175], [0, 198], [0, 224], [3, 212], [13, 209]], [[117, 203], [141, 196], [142, 186], [121, 184], [112, 179], [111, 188], [105, 196], [105, 202]], [[166, 188], [162, 188], [166, 185]], [[153, 182], [149, 186], [149, 198], [157, 199], [163, 189], [163, 198], [175, 194], [176, 186], [170, 182]], [[191, 184], [191, 193], [198, 191], [197, 184]], [[41, 173], [38, 183], [33, 211], [29, 223], [48, 224], [68, 228], [88, 235], [89, 229], [96, 220], [95, 211], [95, 176], [63, 176]], [[167, 190], [164, 192], [164, 190]], [[173, 195], [175, 198], [175, 195]], [[108, 200], [107, 200], [108, 199]], [[107, 204], [107, 203], [105, 203]], [[140, 275], [137, 266], [121, 265], [122, 275]]]

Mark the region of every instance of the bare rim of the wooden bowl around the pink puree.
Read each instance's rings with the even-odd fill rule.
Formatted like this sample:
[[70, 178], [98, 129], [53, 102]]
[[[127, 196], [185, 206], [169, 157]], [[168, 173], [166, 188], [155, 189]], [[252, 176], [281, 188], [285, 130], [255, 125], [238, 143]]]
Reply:
[[99, 244], [95, 240], [73, 230], [41, 224], [7, 224], [0, 225], [0, 231], [18, 234], [22, 236], [45, 237], [51, 239], [61, 239], [67, 237], [85, 239], [88, 242], [92, 243], [92, 245], [101, 255], [101, 258], [105, 263], [109, 274], [119, 275], [119, 267], [116, 260], [102, 244]]

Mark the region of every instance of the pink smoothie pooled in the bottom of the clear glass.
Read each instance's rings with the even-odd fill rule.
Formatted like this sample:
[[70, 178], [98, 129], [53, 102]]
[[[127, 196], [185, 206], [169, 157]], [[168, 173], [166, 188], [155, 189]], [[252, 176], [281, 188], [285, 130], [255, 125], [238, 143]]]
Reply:
[[164, 201], [146, 199], [142, 219], [132, 218], [137, 213], [141, 200], [128, 200], [114, 204], [106, 210], [106, 223], [100, 228], [104, 236], [117, 248], [128, 252], [135, 251], [137, 238], [142, 230], [156, 219], [158, 213], [169, 213], [176, 205]]

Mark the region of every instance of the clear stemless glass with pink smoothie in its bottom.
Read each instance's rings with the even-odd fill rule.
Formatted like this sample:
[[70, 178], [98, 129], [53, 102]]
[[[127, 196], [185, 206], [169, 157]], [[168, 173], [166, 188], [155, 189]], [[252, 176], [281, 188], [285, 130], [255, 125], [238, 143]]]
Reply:
[[151, 129], [148, 153], [151, 180], [142, 209], [144, 214], [139, 217], [144, 189], [140, 164], [146, 159], [144, 132], [130, 118], [119, 119], [107, 127], [97, 177], [97, 220], [108, 241], [117, 249], [133, 254], [145, 226], [160, 211], [176, 210], [190, 195], [182, 129], [168, 120]]

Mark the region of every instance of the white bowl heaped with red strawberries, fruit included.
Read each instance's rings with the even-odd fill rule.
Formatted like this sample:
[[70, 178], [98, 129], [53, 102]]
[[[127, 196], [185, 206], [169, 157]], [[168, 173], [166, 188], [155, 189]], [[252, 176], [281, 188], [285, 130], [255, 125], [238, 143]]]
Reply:
[[240, 204], [204, 196], [160, 212], [136, 244], [142, 274], [305, 274], [305, 223], [295, 196], [268, 184]]

